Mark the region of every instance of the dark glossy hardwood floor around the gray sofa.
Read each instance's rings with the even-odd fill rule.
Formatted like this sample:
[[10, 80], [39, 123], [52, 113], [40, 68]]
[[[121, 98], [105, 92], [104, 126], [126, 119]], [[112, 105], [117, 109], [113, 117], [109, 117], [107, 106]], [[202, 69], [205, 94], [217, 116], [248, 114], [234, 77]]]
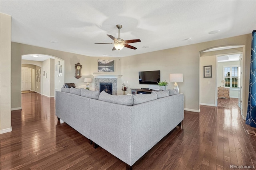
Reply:
[[[172, 130], [133, 169], [227, 170], [233, 164], [256, 165], [256, 136], [246, 133], [255, 129], [244, 123], [236, 103], [220, 99], [218, 107], [185, 111], [183, 130]], [[0, 136], [1, 170], [126, 169], [124, 162], [100, 147], [94, 149], [87, 138], [60, 124], [54, 106], [53, 98], [22, 94], [22, 110], [12, 111], [12, 132]]]

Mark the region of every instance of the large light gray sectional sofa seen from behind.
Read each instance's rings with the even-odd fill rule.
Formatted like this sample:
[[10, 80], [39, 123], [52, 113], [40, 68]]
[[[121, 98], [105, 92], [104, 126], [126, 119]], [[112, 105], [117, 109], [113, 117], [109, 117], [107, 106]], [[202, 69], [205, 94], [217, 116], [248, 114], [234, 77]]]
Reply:
[[127, 169], [184, 119], [184, 94], [110, 95], [77, 88], [56, 91], [56, 116], [126, 163]]

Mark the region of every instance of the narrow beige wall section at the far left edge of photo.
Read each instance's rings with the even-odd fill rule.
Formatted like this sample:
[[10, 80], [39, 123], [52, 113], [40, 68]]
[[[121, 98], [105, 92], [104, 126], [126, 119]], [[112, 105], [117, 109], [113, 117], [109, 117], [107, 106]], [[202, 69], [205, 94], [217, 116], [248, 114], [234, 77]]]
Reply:
[[[11, 126], [11, 16], [0, 13], [0, 134]], [[15, 69], [15, 68], [12, 68]], [[21, 76], [20, 76], [21, 77]], [[21, 81], [20, 81], [21, 83]], [[13, 85], [13, 83], [12, 83]]]

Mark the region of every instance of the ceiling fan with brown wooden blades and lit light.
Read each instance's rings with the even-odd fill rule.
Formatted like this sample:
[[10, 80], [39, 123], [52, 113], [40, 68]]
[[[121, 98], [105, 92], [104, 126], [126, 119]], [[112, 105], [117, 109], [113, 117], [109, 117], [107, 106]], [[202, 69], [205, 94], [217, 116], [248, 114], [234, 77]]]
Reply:
[[140, 39], [136, 40], [123, 40], [120, 38], [120, 29], [122, 28], [122, 25], [118, 24], [116, 25], [118, 28], [118, 38], [114, 38], [112, 35], [108, 35], [114, 42], [106, 42], [106, 43], [94, 43], [94, 44], [114, 44], [113, 50], [122, 50], [122, 48], [127, 47], [136, 50], [137, 48], [134, 46], [129, 45], [129, 43], [134, 43], [134, 42], [140, 42]]

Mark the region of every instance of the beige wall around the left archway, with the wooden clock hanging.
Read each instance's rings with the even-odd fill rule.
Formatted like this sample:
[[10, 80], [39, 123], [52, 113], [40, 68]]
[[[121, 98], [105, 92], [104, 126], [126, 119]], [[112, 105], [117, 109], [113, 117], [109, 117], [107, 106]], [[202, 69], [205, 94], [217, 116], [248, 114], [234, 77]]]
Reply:
[[[12, 70], [12, 108], [21, 107], [21, 56], [25, 54], [46, 54], [65, 60], [65, 82], [74, 82], [76, 86], [84, 86], [84, 78], [76, 79], [75, 76], [75, 64], [80, 62], [82, 64], [82, 74], [90, 74], [90, 57], [80, 54], [73, 54], [69, 52], [63, 52], [58, 50], [52, 50], [47, 48], [41, 48], [36, 46], [30, 46], [26, 44], [20, 44], [12, 42], [12, 67], [16, 68]], [[29, 64], [29, 63], [27, 63]], [[37, 65], [37, 64], [35, 64]], [[54, 69], [54, 66], [53, 66]], [[41, 75], [42, 75], [41, 70]], [[54, 70], [53, 70], [54, 71]], [[54, 74], [54, 73], [53, 73]], [[85, 86], [84, 86], [85, 87]], [[53, 88], [54, 90], [54, 88]], [[37, 91], [38, 92], [38, 91]], [[40, 92], [41, 93], [41, 92]], [[54, 93], [54, 92], [53, 92]], [[52, 92], [51, 92], [52, 95]], [[14, 98], [15, 96], [15, 98]], [[54, 96], [54, 94], [53, 94]]]

